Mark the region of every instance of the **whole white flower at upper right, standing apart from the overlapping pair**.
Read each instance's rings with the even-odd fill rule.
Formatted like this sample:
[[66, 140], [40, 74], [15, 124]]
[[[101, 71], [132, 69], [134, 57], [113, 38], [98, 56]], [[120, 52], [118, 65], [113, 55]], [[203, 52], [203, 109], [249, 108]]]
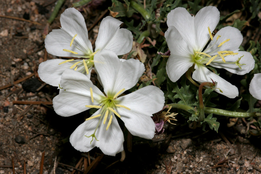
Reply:
[[[224, 68], [231, 73], [244, 75], [254, 68], [255, 61], [246, 51], [238, 51], [243, 37], [237, 28], [224, 27], [214, 37], [212, 32], [219, 22], [216, 7], [202, 8], [191, 16], [185, 8], [175, 8], [167, 16], [168, 30], [165, 38], [171, 52], [166, 70], [171, 81], [177, 81], [195, 64], [192, 78], [202, 83], [217, 81], [216, 92], [229, 98], [238, 96], [238, 88], [211, 72], [206, 65]], [[209, 38], [210, 43], [206, 47]]]

